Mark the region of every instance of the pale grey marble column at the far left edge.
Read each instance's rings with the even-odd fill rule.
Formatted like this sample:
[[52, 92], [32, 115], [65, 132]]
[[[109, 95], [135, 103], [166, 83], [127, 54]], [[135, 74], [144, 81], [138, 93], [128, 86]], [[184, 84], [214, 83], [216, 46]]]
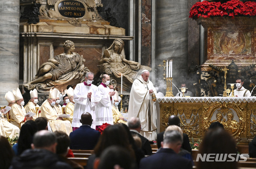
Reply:
[[4, 95], [19, 86], [20, 0], [0, 1], [0, 106]]

